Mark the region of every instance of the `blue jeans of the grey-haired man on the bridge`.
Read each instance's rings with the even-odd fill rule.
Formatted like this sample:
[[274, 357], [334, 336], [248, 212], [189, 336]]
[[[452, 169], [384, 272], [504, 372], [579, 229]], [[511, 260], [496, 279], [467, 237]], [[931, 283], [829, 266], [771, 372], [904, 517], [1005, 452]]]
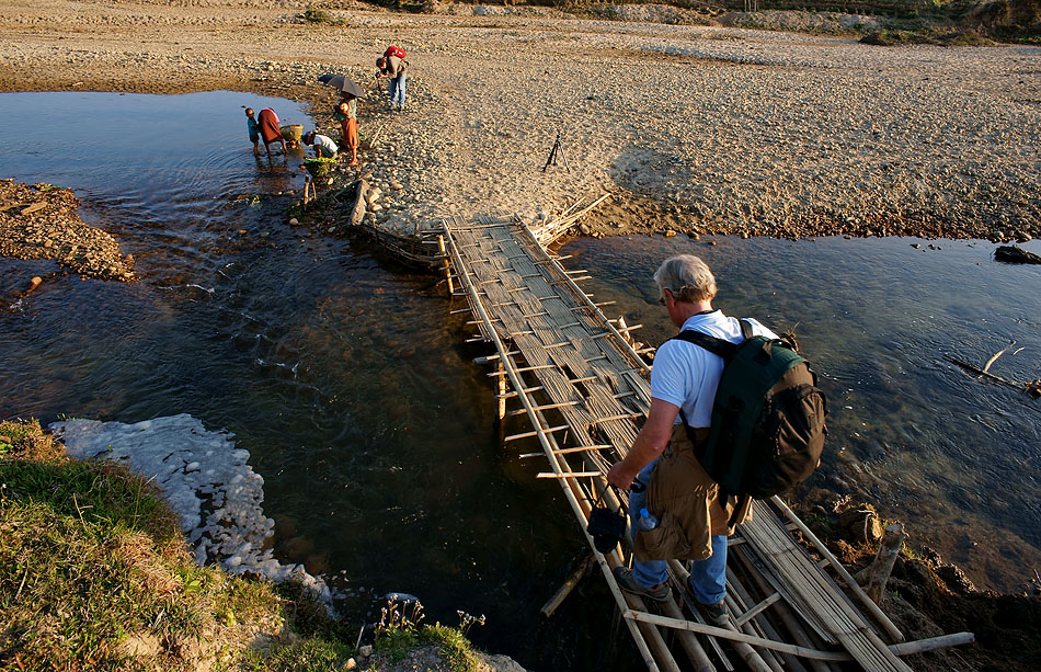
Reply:
[[[657, 459], [643, 467], [637, 475], [637, 481], [643, 486], [636, 486], [629, 491], [629, 525], [632, 538], [636, 539], [640, 509], [647, 508], [647, 485], [651, 482], [651, 471]], [[637, 489], [640, 492], [637, 492]], [[654, 513], [653, 511], [651, 513]], [[668, 569], [665, 560], [648, 560], [632, 563], [632, 578], [644, 588], [657, 585], [668, 581]], [[727, 535], [712, 536], [712, 555], [705, 560], [695, 560], [690, 563], [690, 590], [700, 604], [716, 604], [727, 596]]]

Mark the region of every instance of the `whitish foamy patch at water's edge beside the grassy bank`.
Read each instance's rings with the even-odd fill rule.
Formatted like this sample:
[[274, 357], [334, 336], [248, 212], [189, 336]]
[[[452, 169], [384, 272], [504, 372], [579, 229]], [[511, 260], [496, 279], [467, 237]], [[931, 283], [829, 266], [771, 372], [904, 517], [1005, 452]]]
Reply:
[[249, 451], [234, 447], [232, 434], [209, 432], [186, 413], [134, 424], [66, 420], [50, 430], [72, 457], [121, 462], [155, 479], [181, 516], [199, 565], [217, 561], [233, 573], [294, 579], [328, 602], [324, 581], [300, 565], [283, 565], [264, 548], [275, 529], [261, 506], [264, 479], [247, 464]]

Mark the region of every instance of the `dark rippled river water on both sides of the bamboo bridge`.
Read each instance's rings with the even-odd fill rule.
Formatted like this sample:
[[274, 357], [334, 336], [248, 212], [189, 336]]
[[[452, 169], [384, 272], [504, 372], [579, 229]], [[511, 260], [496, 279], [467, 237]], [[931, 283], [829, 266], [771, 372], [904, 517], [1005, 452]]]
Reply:
[[[502, 448], [524, 424], [496, 426], [467, 318], [448, 316], [434, 276], [289, 227], [300, 156], [254, 158], [242, 105], [307, 122], [289, 101], [230, 92], [0, 95], [24, 129], [0, 149], [0, 178], [75, 189], [140, 276], [80, 282], [0, 260], [0, 417], [190, 413], [250, 452], [276, 556], [323, 573], [345, 613], [371, 616], [401, 591], [428, 620], [487, 615], [478, 645], [531, 669], [638, 665], [603, 582], [537, 615], [583, 544], [559, 487], [534, 478], [540, 460], [517, 458], [537, 447]], [[716, 241], [564, 252], [649, 341], [670, 334], [650, 274], [676, 252], [712, 265], [728, 312], [798, 323], [832, 411], [814, 483], [877, 501], [981, 585], [1022, 583], [1041, 565], [1041, 402], [943, 354], [982, 364], [1016, 340], [992, 371], [1041, 375], [1041, 270], [995, 263], [980, 241]], [[32, 275], [44, 285], [12, 306]]]

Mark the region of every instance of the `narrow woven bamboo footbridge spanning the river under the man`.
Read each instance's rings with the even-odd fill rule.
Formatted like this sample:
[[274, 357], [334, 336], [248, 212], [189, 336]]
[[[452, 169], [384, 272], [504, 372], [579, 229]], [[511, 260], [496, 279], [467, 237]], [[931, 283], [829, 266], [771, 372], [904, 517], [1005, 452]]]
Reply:
[[[650, 407], [650, 367], [624, 321], [608, 319], [547, 251], [553, 232], [516, 218], [451, 218], [438, 238], [453, 297], [462, 297], [477, 328], [472, 341], [494, 344], [480, 357], [497, 381], [500, 418], [526, 414], [531, 430], [506, 445], [537, 438], [547, 460], [539, 478], [560, 483], [595, 565], [649, 670], [911, 670], [901, 656], [972, 641], [960, 633], [914, 642], [882, 613], [779, 498], [754, 503], [754, 517], [730, 538], [729, 627], [708, 625], [685, 590], [687, 571], [670, 562], [672, 597], [644, 603], [622, 593], [611, 568], [622, 546], [604, 555], [585, 533], [607, 469], [632, 445]], [[513, 410], [507, 410], [515, 406]], [[625, 506], [610, 489], [614, 506]], [[797, 542], [801, 532], [816, 558]], [[575, 580], [576, 581], [576, 580]], [[569, 583], [574, 583], [570, 581]], [[839, 588], [845, 585], [845, 591]], [[848, 592], [848, 594], [847, 594]], [[567, 592], [560, 593], [560, 600]], [[851, 596], [850, 596], [851, 595]], [[677, 600], [678, 596], [678, 600]]]

